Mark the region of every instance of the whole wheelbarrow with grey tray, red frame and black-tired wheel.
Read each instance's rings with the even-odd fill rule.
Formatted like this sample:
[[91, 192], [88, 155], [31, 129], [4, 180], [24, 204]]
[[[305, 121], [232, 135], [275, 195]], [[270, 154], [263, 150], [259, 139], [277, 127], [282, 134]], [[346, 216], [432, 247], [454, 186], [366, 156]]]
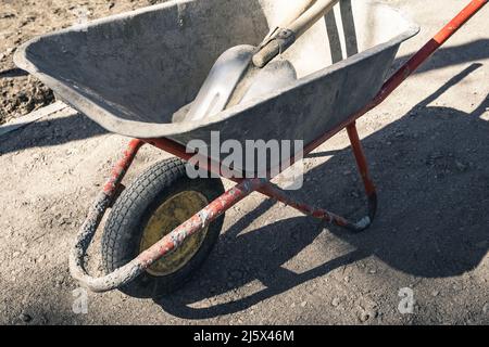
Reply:
[[[120, 288], [136, 297], [176, 291], [210, 254], [224, 214], [252, 192], [346, 231], [364, 231], [374, 221], [377, 197], [355, 120], [388, 98], [487, 2], [471, 1], [387, 78], [400, 44], [419, 28], [385, 4], [343, 0], [278, 57], [293, 65], [294, 82], [198, 121], [178, 115], [188, 110], [217, 56], [233, 46], [259, 44], [275, 27], [278, 10], [292, 1], [171, 1], [24, 44], [15, 55], [21, 68], [109, 131], [135, 139], [76, 236], [70, 255], [73, 278], [93, 292]], [[344, 128], [368, 202], [359, 221], [297, 202], [272, 183], [275, 174]], [[211, 153], [199, 160], [199, 169], [214, 178], [190, 179], [186, 167], [195, 165], [197, 153], [189, 151], [189, 143], [199, 140], [211, 146], [216, 131], [222, 141], [240, 144], [279, 139], [305, 145], [302, 153], [265, 166], [264, 176], [247, 166], [226, 167]], [[143, 144], [178, 158], [158, 163], [120, 193]], [[226, 177], [236, 182], [228, 191], [215, 178], [223, 169], [239, 174]], [[93, 278], [85, 257], [109, 208], [102, 235], [106, 274]]]

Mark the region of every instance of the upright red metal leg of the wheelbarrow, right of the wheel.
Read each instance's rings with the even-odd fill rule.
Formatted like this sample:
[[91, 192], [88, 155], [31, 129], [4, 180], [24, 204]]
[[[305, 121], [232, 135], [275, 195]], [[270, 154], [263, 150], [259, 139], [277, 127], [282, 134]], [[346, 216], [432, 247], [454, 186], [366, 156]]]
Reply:
[[360, 176], [362, 177], [363, 184], [365, 187], [365, 193], [368, 198], [368, 217], [373, 221], [377, 214], [377, 192], [374, 181], [372, 180], [371, 172], [368, 171], [367, 160], [365, 153], [363, 152], [362, 143], [360, 142], [359, 131], [356, 130], [356, 124], [353, 121], [347, 127], [348, 137], [350, 138], [351, 149], [355, 156], [356, 166], [359, 168]]

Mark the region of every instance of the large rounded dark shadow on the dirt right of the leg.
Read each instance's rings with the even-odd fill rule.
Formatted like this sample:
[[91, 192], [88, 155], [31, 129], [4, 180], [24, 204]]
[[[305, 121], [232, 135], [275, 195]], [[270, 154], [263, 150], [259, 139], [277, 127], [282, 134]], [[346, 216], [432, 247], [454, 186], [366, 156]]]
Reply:
[[[489, 121], [480, 118], [489, 97], [471, 113], [429, 106], [480, 66], [472, 64], [399, 121], [365, 139], [379, 185], [379, 216], [361, 235], [331, 228], [334, 234], [419, 278], [456, 277], [480, 264], [489, 248]], [[311, 175], [321, 178], [323, 170]], [[348, 197], [340, 209], [359, 206], [347, 190], [342, 193]]]

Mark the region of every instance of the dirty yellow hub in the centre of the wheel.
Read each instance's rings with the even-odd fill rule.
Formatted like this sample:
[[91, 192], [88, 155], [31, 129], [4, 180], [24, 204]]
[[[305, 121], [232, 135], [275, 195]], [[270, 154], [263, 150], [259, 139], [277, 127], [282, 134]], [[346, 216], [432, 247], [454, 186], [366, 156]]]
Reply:
[[[208, 205], [208, 200], [199, 192], [186, 191], [168, 198], [151, 216], [142, 232], [140, 252], [143, 252], [171, 233], [176, 227]], [[191, 235], [174, 252], [154, 262], [147, 272], [164, 277], [180, 270], [199, 250], [209, 228]]]

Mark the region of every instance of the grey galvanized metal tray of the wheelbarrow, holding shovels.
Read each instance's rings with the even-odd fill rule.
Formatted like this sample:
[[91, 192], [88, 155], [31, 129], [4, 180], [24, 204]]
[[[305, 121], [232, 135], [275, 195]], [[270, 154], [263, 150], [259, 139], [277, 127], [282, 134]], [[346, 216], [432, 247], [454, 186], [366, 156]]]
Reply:
[[259, 44], [300, 1], [170, 1], [36, 38], [15, 63], [120, 134], [209, 144], [218, 130], [222, 141], [308, 144], [378, 92], [400, 44], [419, 30], [399, 11], [342, 0], [280, 57], [294, 66], [296, 82], [201, 121], [174, 121], [221, 53]]

